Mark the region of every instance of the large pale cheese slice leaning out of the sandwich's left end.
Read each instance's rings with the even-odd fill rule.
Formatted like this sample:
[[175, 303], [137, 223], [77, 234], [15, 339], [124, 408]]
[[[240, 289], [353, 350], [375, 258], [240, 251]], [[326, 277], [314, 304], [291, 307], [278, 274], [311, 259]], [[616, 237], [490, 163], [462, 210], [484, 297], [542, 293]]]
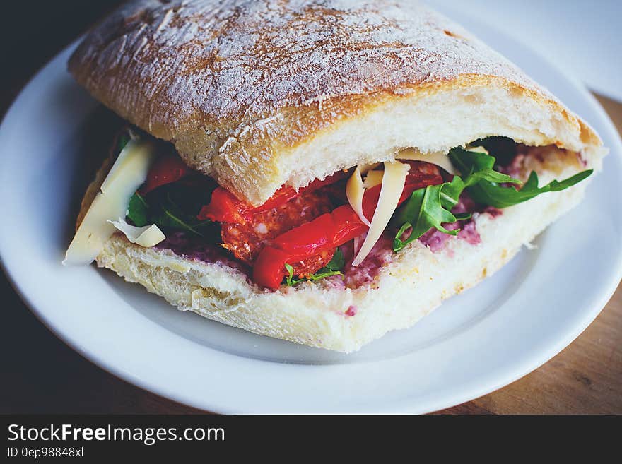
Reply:
[[126, 215], [129, 198], [145, 182], [153, 156], [153, 145], [146, 141], [125, 145], [69, 244], [63, 264], [88, 264], [100, 254], [115, 232], [107, 221]]

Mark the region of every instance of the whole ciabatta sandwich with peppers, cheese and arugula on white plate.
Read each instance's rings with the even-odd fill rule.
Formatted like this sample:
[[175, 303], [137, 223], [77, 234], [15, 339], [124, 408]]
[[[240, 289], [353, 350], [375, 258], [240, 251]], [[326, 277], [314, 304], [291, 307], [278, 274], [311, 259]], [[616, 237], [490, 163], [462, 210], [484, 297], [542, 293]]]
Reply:
[[127, 128], [64, 262], [341, 352], [495, 273], [606, 154], [548, 90], [414, 1], [131, 1], [69, 71]]

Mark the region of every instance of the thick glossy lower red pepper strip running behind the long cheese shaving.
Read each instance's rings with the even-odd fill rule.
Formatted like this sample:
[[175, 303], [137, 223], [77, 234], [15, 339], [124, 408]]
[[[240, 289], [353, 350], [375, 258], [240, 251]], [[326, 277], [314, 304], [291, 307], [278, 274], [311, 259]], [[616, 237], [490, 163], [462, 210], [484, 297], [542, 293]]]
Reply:
[[[399, 203], [404, 202], [417, 189], [443, 182], [438, 167], [426, 162], [411, 161], [409, 164], [411, 170], [406, 177]], [[380, 187], [372, 187], [363, 196], [363, 214], [369, 220], [378, 204]], [[285, 275], [286, 263], [302, 261], [321, 251], [349, 242], [366, 230], [368, 226], [358, 218], [351, 206], [339, 206], [331, 213], [279, 235], [271, 246], [264, 247], [254, 263], [253, 280], [259, 285], [276, 290]]]

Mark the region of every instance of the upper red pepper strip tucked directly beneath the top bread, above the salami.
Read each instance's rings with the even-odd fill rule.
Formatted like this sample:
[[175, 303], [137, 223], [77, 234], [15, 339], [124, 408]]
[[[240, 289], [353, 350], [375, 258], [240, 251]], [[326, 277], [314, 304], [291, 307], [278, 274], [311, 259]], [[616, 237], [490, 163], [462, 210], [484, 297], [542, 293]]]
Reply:
[[238, 200], [230, 191], [218, 187], [218, 189], [213, 191], [209, 205], [201, 208], [197, 218], [199, 220], [209, 219], [217, 222], [244, 224], [250, 220], [254, 213], [281, 206], [300, 195], [303, 191], [317, 190], [325, 185], [333, 184], [347, 175], [347, 171], [339, 171], [324, 180], [317, 179], [298, 191], [295, 191], [291, 186], [282, 186], [261, 206], [252, 206], [245, 201]]

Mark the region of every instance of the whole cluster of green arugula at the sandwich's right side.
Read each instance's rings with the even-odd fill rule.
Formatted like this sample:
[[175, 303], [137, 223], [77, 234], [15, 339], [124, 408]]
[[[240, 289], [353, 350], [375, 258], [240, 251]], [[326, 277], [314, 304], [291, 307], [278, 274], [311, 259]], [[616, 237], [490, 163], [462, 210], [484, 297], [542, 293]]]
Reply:
[[[503, 143], [503, 139], [495, 143]], [[451, 210], [459, 202], [460, 194], [467, 189], [471, 198], [481, 205], [495, 208], [507, 208], [534, 196], [548, 191], [560, 191], [581, 182], [592, 174], [592, 169], [575, 174], [561, 182], [556, 180], [538, 186], [536, 172], [529, 174], [529, 179], [521, 189], [503, 184], [519, 184], [519, 179], [495, 171], [495, 157], [486, 153], [465, 150], [462, 147], [452, 148], [449, 153], [452, 164], [461, 176], [454, 176], [452, 182], [428, 185], [413, 191], [404, 206], [401, 206], [392, 218], [392, 225], [397, 228], [393, 239], [394, 251], [400, 251], [413, 240], [418, 239], [430, 229], [450, 235], [459, 230], [447, 230], [443, 224], [451, 224], [458, 220], [469, 219], [469, 213], [452, 213]], [[408, 238], [402, 239], [406, 230], [411, 230]]]

